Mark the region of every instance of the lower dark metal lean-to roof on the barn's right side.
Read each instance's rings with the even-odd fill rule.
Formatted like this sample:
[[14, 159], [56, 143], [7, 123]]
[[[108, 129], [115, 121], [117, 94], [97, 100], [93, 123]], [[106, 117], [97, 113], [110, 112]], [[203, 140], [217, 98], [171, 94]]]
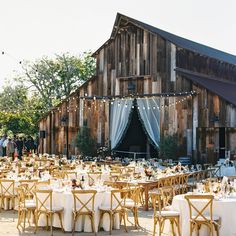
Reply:
[[176, 72], [236, 106], [236, 83], [176, 68]]

